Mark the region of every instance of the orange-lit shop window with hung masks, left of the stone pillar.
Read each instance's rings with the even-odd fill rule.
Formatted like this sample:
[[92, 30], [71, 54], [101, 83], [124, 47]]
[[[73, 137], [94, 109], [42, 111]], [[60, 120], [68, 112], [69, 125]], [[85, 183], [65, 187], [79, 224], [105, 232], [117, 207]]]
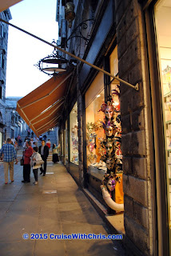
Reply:
[[[108, 59], [109, 69], [117, 76], [117, 46]], [[89, 191], [107, 207], [101, 196], [101, 184], [111, 194], [113, 202], [123, 204], [120, 119], [119, 84], [111, 79], [111, 82], [105, 85], [104, 74], [98, 73], [85, 92], [85, 172], [88, 174]], [[112, 173], [119, 178], [119, 182], [111, 176]], [[113, 182], [113, 188], [109, 187], [110, 182]], [[113, 210], [116, 210], [115, 207]], [[109, 212], [111, 213], [111, 210]]]

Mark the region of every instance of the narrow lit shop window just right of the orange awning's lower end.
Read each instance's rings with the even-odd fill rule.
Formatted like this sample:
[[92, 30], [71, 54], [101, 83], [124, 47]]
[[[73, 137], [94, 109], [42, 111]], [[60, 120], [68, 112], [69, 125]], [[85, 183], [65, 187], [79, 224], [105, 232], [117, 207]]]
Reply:
[[78, 104], [70, 112], [70, 162], [78, 165]]

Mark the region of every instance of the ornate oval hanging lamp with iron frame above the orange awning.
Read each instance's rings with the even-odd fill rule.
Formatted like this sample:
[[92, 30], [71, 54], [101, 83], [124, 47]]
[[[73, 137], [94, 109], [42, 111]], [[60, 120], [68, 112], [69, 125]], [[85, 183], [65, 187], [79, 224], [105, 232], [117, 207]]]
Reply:
[[[57, 45], [55, 41], [53, 41], [54, 45]], [[48, 55], [45, 58], [39, 60], [38, 64], [34, 66], [38, 66], [38, 69], [43, 73], [48, 75], [57, 75], [58, 73], [62, 73], [66, 71], [68, 60], [62, 57], [61, 54], [58, 54], [58, 50], [54, 48], [52, 54]]]

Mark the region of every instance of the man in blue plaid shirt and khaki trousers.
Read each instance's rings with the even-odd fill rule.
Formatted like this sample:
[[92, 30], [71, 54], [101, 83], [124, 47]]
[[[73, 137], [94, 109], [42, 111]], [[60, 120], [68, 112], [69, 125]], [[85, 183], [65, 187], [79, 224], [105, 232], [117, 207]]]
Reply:
[[7, 143], [2, 146], [0, 150], [0, 156], [3, 158], [3, 168], [5, 184], [8, 184], [8, 168], [10, 166], [10, 181], [14, 182], [14, 160], [18, 163], [16, 150], [14, 145], [11, 144], [11, 139], [7, 138]]

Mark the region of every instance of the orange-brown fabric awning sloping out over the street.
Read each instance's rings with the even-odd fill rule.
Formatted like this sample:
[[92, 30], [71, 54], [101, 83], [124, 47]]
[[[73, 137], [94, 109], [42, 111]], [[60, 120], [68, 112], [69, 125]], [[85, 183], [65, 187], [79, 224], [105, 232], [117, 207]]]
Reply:
[[17, 103], [18, 114], [38, 136], [57, 126], [72, 72], [54, 76]]

